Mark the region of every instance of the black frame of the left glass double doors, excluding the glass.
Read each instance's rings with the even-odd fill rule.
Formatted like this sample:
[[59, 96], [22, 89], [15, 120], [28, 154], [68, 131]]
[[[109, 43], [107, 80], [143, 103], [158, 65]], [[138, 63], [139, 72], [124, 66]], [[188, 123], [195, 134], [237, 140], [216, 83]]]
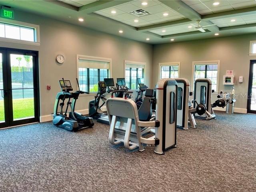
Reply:
[[[34, 123], [34, 122], [39, 122], [40, 118], [40, 84], [39, 84], [39, 62], [38, 62], [38, 51], [33, 51], [33, 50], [27, 50], [27, 49], [13, 49], [13, 48], [1, 48], [0, 50], [5, 51], [5, 64], [6, 65], [6, 76], [8, 76], [8, 73], [11, 73], [11, 66], [10, 64], [10, 58], [8, 57], [9, 54], [20, 54], [20, 55], [31, 55], [33, 56], [33, 83], [34, 83], [34, 107], [37, 110], [34, 110], [34, 118], [29, 118], [29, 119], [20, 119], [13, 121], [13, 111], [12, 111], [12, 79], [11, 77], [6, 77], [6, 82], [7, 85], [5, 87], [8, 87], [8, 98], [7, 101], [7, 107], [8, 107], [8, 122], [6, 122], [5, 127], [12, 127], [16, 125], [22, 125], [22, 124], [27, 124], [27, 123]], [[4, 63], [4, 62], [3, 62]], [[5, 108], [6, 109], [6, 108]], [[0, 126], [0, 128], [3, 128], [3, 126]]]

